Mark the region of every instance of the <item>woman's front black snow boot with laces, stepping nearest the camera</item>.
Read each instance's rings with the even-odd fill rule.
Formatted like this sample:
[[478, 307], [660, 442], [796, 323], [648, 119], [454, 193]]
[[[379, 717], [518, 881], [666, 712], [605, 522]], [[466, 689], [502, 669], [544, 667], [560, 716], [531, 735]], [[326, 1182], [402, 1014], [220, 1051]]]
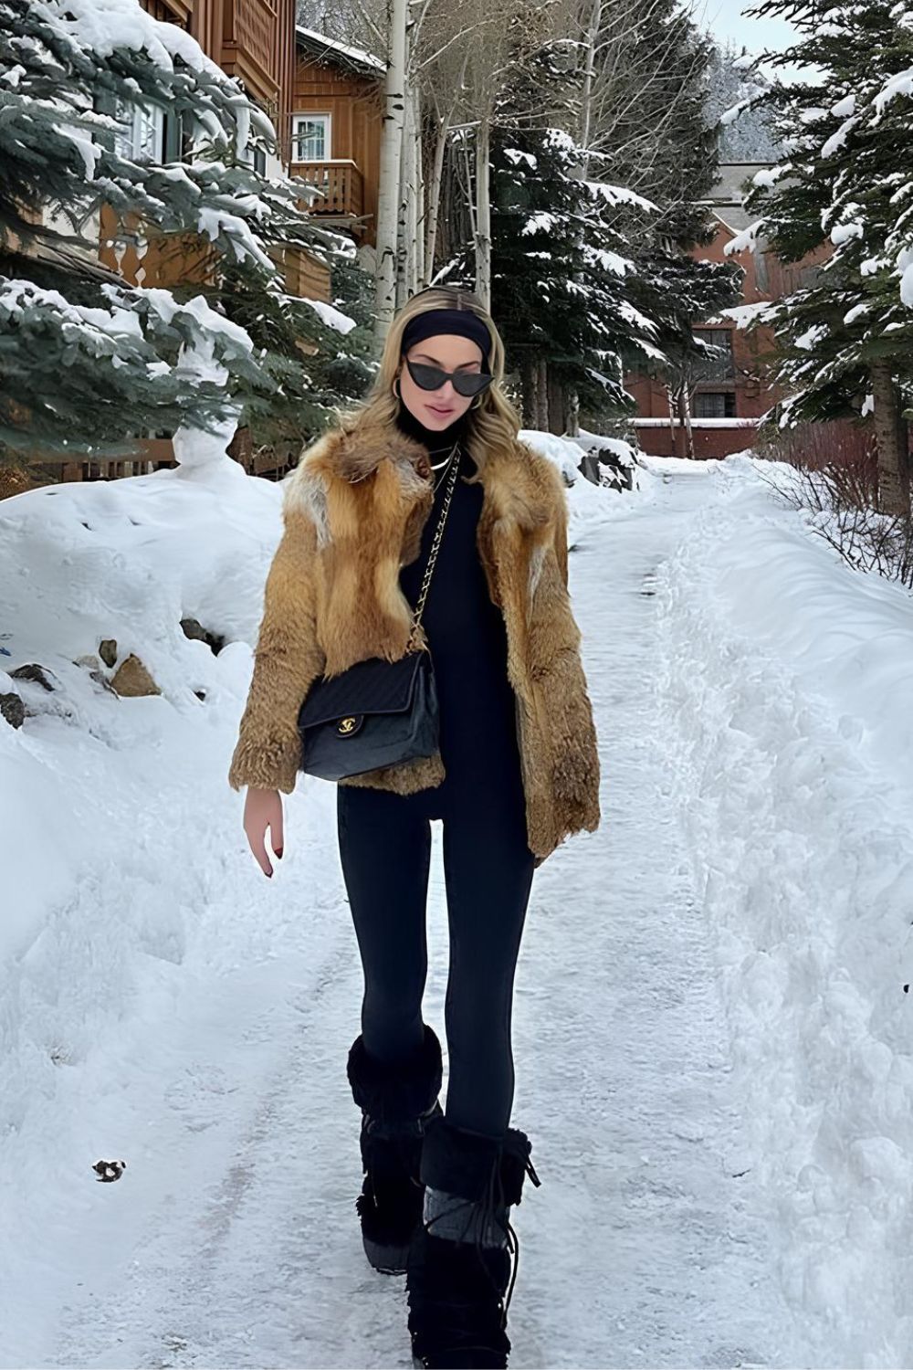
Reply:
[[423, 1223], [405, 1277], [415, 1366], [506, 1366], [506, 1315], [519, 1266], [509, 1207], [520, 1203], [527, 1174], [541, 1184], [530, 1151], [517, 1128], [489, 1137], [443, 1117], [428, 1123], [419, 1171]]

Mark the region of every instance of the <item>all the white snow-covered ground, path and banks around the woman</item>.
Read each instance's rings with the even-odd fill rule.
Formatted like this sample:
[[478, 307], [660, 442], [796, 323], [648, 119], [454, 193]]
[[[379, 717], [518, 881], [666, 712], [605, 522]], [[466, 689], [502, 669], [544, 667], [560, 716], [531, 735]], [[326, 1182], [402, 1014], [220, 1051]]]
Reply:
[[[517, 967], [517, 1370], [913, 1366], [913, 601], [758, 470], [569, 490], [605, 817]], [[355, 1212], [334, 786], [268, 881], [226, 780], [279, 496], [226, 460], [0, 504], [0, 666], [56, 686], [0, 670], [4, 1367], [411, 1365]], [[73, 664], [105, 638], [162, 695]]]

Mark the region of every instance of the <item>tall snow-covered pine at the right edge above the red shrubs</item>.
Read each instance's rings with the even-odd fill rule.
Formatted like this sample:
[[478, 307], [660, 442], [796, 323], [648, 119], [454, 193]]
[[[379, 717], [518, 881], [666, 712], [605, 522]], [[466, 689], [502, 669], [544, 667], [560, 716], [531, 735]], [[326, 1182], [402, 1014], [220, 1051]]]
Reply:
[[[760, 97], [784, 152], [749, 207], [751, 236], [786, 262], [816, 255], [779, 304], [782, 423], [873, 414], [879, 503], [910, 510], [903, 407], [913, 382], [913, 29], [909, 0], [768, 0], [799, 40], [776, 62], [819, 79]], [[738, 242], [735, 244], [738, 247]]]

